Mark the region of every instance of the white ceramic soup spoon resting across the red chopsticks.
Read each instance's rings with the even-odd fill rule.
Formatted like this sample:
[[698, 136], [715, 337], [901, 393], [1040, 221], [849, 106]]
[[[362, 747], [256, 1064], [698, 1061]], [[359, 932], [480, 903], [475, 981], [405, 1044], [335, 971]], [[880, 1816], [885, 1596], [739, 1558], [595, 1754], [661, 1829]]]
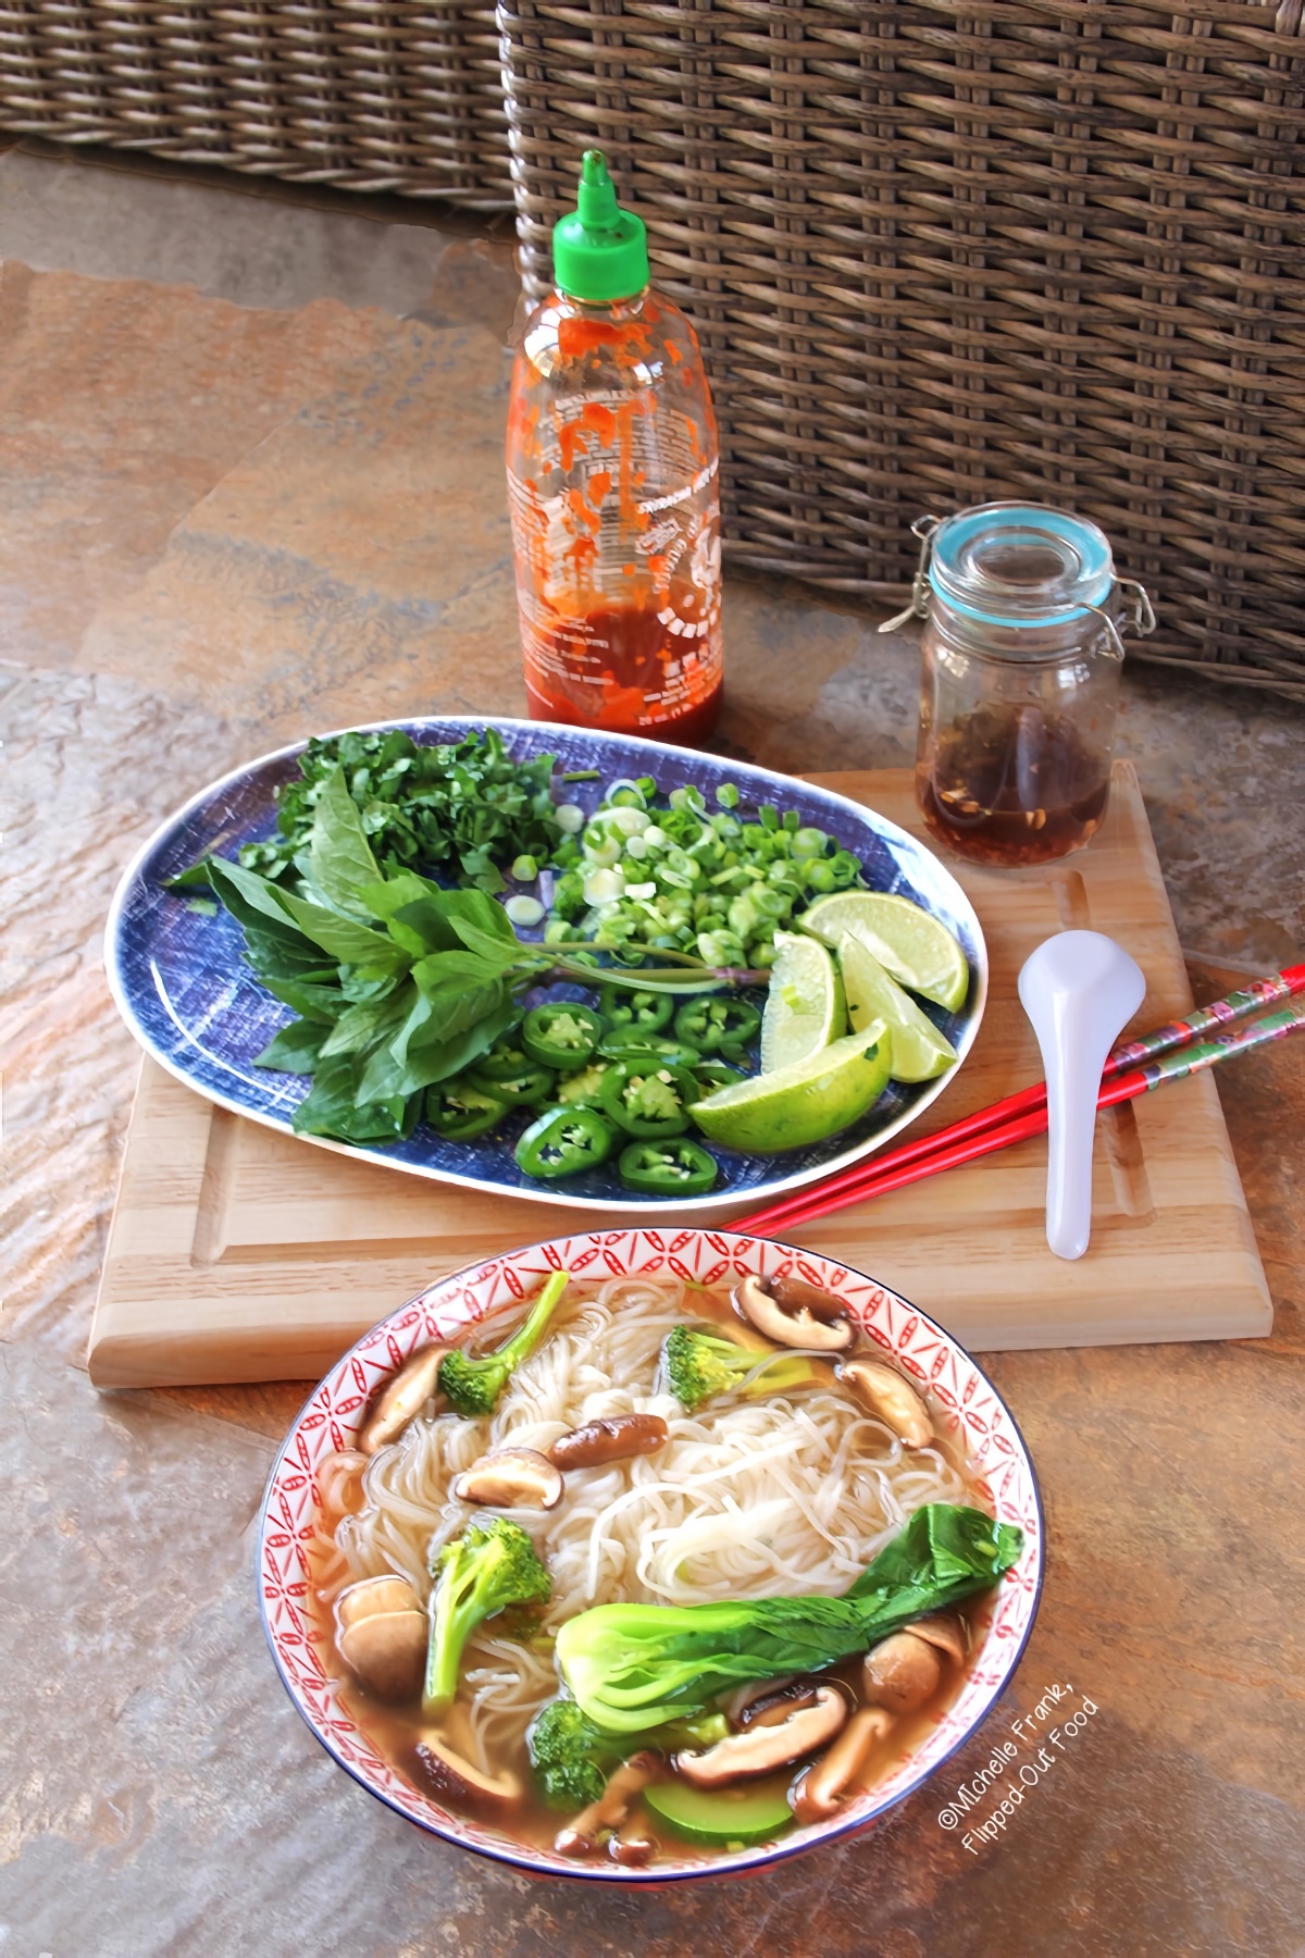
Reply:
[[1141, 967], [1103, 932], [1058, 932], [1019, 973], [1047, 1077], [1047, 1243], [1057, 1257], [1088, 1249], [1102, 1069], [1145, 993]]

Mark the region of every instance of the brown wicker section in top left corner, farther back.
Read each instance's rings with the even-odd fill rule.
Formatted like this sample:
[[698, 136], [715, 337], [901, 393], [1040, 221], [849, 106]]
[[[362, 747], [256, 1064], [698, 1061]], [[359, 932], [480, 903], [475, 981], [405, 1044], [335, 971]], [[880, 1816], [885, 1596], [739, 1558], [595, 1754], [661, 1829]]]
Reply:
[[0, 0], [0, 127], [350, 190], [513, 202], [493, 6]]

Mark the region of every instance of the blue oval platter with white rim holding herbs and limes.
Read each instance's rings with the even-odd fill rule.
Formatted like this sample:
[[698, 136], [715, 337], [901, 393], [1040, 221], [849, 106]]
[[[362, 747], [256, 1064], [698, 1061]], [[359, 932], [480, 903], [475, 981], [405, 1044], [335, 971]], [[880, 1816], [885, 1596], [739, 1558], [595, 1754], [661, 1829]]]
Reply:
[[[843, 850], [861, 860], [871, 889], [912, 899], [957, 936], [970, 967], [965, 1004], [957, 1012], [922, 1004], [957, 1049], [957, 1065], [972, 1048], [988, 993], [988, 956], [978, 918], [933, 852], [871, 809], [745, 762], [542, 721], [440, 719], [376, 724], [401, 726], [421, 744], [458, 742], [470, 730], [493, 726], [517, 760], [554, 754], [560, 771], [597, 769], [597, 781], [558, 787], [558, 801], [575, 801], [585, 815], [601, 801], [605, 783], [638, 775], [653, 775], [661, 797], [675, 787], [695, 785], [708, 809], [714, 807], [714, 791], [730, 781], [740, 795], [734, 811], [738, 816], [755, 816], [763, 803], [796, 809], [804, 824], [828, 830]], [[209, 914], [207, 905], [196, 909], [194, 891], [168, 891], [164, 885], [198, 858], [233, 858], [243, 844], [272, 836], [274, 791], [297, 773], [297, 758], [305, 746], [295, 742], [215, 781], [162, 824], [123, 875], [110, 912], [106, 948], [113, 997], [145, 1051], [221, 1108], [286, 1134], [292, 1134], [292, 1114], [311, 1083], [303, 1075], [252, 1063], [293, 1014], [260, 987], [245, 963], [243, 934], [235, 918], [223, 909], [215, 914]], [[562, 991], [577, 997], [573, 987]], [[513, 1157], [528, 1114], [509, 1116], [499, 1132], [481, 1142], [448, 1142], [425, 1122], [407, 1142], [368, 1147], [309, 1136], [301, 1140], [344, 1149], [407, 1175], [577, 1210], [626, 1218], [665, 1212], [667, 1206], [677, 1218], [738, 1214], [740, 1206], [771, 1202], [882, 1147], [941, 1095], [955, 1071], [953, 1067], [937, 1081], [914, 1087], [892, 1081], [859, 1124], [806, 1149], [742, 1155], [712, 1147], [720, 1183], [710, 1194], [691, 1198], [636, 1196], [616, 1179], [614, 1165], [565, 1185], [532, 1181]]]

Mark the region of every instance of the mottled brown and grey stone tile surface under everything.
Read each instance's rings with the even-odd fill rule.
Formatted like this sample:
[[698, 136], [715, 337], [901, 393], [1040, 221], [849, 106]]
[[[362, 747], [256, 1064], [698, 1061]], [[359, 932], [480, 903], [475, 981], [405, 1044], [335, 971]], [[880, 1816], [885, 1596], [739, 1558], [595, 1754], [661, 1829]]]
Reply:
[[[511, 256], [466, 225], [399, 233], [0, 155], [0, 1952], [1299, 1952], [1293, 1048], [1221, 1083], [1272, 1339], [992, 1361], [1049, 1510], [1029, 1655], [931, 1788], [769, 1880], [593, 1899], [395, 1821], [295, 1719], [256, 1619], [250, 1519], [303, 1386], [86, 1384], [137, 1069], [102, 971], [121, 865], [313, 726], [522, 709]], [[726, 752], [910, 760], [906, 638], [751, 582], [726, 636]], [[1121, 746], [1201, 997], [1301, 956], [1303, 728], [1262, 695], [1127, 677]], [[970, 1854], [937, 1809], [1057, 1682], [1100, 1713]]]

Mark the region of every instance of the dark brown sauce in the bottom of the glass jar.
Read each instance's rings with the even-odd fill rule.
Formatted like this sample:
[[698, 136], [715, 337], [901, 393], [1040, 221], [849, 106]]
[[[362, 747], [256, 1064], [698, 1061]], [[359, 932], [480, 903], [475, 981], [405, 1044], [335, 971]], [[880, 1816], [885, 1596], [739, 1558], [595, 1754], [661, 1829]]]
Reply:
[[992, 703], [939, 728], [918, 777], [923, 820], [976, 863], [1049, 863], [1100, 830], [1109, 754], [1035, 701]]

